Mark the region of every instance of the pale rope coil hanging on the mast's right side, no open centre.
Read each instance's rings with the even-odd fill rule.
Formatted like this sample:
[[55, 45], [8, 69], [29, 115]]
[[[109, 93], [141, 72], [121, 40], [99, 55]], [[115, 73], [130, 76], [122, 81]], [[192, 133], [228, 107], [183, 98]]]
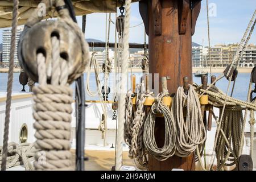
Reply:
[[172, 110], [177, 126], [175, 154], [185, 157], [196, 151], [197, 147], [199, 147], [201, 153], [204, 148], [206, 131], [201, 115], [200, 102], [192, 85], [189, 85], [188, 95], [185, 95], [183, 87], [180, 86], [177, 89]]

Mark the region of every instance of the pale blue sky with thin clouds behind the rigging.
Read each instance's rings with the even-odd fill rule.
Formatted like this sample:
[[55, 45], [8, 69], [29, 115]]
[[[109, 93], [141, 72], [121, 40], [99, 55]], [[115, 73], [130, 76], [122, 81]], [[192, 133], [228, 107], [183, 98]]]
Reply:
[[[247, 24], [256, 8], [255, 0], [209, 0], [210, 10], [210, 44], [229, 44], [240, 42]], [[207, 10], [206, 0], [202, 1], [201, 12], [197, 19], [196, 32], [192, 36], [192, 41], [203, 46], [208, 45], [207, 35]], [[112, 13], [112, 20], [115, 21], [115, 14]], [[81, 16], [77, 16], [81, 25]], [[131, 6], [130, 26], [142, 23], [139, 15], [138, 3]], [[110, 42], [114, 42], [114, 24], [110, 28]], [[256, 29], [256, 28], [255, 28]], [[255, 30], [256, 31], [256, 30]], [[250, 43], [256, 44], [256, 32], [253, 32]], [[94, 13], [86, 18], [86, 38], [93, 38], [105, 41], [106, 39], [106, 14]], [[2, 42], [2, 30], [0, 30], [0, 43]], [[130, 28], [130, 42], [144, 42], [143, 24]]]

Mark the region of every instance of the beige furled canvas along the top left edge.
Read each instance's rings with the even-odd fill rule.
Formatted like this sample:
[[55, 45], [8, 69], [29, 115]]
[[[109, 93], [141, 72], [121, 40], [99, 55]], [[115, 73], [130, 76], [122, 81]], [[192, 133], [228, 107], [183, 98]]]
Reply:
[[[133, 0], [133, 2], [138, 0]], [[38, 7], [40, 0], [20, 0], [18, 23], [24, 24], [34, 9]], [[117, 0], [72, 0], [77, 16], [90, 13], [114, 13], [116, 7], [120, 6]], [[45, 19], [56, 16], [56, 11], [49, 12]], [[11, 27], [13, 16], [13, 1], [0, 1], [0, 28]]]

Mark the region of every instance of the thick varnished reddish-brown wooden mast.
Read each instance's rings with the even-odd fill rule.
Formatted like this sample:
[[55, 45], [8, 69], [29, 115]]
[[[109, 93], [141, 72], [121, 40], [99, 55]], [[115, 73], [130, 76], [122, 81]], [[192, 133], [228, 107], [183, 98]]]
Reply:
[[[192, 7], [191, 7], [192, 4]], [[139, 2], [139, 10], [148, 34], [149, 71], [159, 79], [170, 76], [167, 88], [175, 94], [187, 76], [192, 84], [192, 35], [195, 31], [200, 0], [150, 0]], [[154, 80], [154, 79], [153, 79]], [[159, 92], [162, 91], [159, 80]], [[156, 118], [155, 137], [159, 147], [164, 143], [164, 118]], [[172, 156], [160, 162], [149, 155], [149, 170], [181, 168], [195, 170], [195, 155]]]

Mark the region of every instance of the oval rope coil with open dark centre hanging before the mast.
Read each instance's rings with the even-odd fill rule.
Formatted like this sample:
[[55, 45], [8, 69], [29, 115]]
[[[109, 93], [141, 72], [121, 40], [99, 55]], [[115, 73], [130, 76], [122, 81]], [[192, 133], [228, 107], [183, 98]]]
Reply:
[[[154, 104], [151, 107], [150, 113], [148, 114], [144, 123], [143, 131], [143, 142], [149, 154], [154, 156], [157, 160], [166, 160], [175, 154], [176, 144], [176, 126], [174, 115], [172, 111], [163, 104], [162, 98], [167, 93], [160, 93], [156, 98]], [[162, 147], [158, 147], [155, 141], [155, 117], [156, 113], [164, 115], [165, 121], [165, 135], [164, 144]]]

